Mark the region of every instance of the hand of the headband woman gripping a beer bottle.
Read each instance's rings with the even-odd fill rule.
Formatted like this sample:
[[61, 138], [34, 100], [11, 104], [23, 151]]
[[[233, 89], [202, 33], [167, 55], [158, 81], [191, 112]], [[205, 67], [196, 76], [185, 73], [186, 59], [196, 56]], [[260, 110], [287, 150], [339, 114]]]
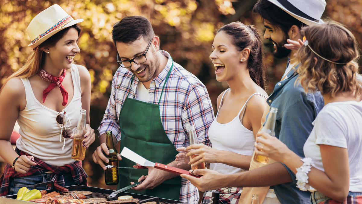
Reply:
[[291, 152], [283, 142], [266, 132], [258, 132], [254, 146], [256, 147], [256, 154], [282, 163], [284, 163], [283, 161], [285, 161], [286, 156]]

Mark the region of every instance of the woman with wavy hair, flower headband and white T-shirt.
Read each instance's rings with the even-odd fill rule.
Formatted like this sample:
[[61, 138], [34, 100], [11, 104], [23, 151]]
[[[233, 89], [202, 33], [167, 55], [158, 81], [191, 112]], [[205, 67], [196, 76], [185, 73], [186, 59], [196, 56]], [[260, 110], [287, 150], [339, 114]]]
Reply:
[[304, 144], [306, 158], [265, 132], [258, 133], [262, 137], [257, 137], [255, 151], [287, 165], [296, 174], [297, 187], [312, 191], [313, 204], [362, 203], [362, 83], [357, 79], [356, 39], [332, 22], [302, 32], [299, 81], [306, 92], [320, 91], [325, 103]]

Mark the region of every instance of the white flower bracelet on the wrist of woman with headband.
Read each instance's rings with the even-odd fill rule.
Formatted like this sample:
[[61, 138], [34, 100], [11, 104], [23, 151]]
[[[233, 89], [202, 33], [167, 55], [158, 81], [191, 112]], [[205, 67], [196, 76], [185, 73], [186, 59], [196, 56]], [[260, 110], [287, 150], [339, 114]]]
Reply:
[[296, 168], [296, 187], [298, 187], [301, 191], [315, 191], [315, 189], [308, 184], [307, 175], [311, 171], [312, 166], [314, 166], [314, 163], [309, 157], [300, 160], [302, 160], [303, 165]]

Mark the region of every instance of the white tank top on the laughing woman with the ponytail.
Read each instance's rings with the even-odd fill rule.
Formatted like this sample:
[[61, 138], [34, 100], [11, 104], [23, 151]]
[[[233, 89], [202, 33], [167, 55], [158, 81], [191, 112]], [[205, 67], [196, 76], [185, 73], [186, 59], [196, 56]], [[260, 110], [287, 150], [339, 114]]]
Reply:
[[[225, 91], [222, 96], [219, 110], [226, 92], [227, 91]], [[231, 151], [243, 155], [253, 155], [255, 142], [253, 131], [245, 128], [245, 126], [243, 125], [243, 121], [240, 118], [243, 118], [246, 105], [251, 97], [254, 95], [263, 96], [265, 97], [265, 99], [267, 98], [260, 93], [254, 93], [245, 102], [237, 116], [233, 118], [230, 122], [225, 124], [219, 123], [217, 121], [218, 114], [216, 114], [215, 120], [212, 122], [209, 128], [209, 138], [212, 144], [212, 148]], [[211, 163], [210, 169], [220, 172], [222, 174], [234, 174], [237, 172], [245, 171], [241, 168], [229, 166], [223, 163]]]

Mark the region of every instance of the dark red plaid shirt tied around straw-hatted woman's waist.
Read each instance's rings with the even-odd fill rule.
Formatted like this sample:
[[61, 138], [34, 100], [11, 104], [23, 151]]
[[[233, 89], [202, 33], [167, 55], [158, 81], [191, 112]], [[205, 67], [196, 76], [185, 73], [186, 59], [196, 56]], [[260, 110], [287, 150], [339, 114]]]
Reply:
[[[19, 155], [25, 154], [27, 157], [30, 156], [30, 154], [25, 153], [23, 151], [20, 151], [16, 149], [17, 153]], [[82, 162], [76, 161], [74, 163], [64, 165], [64, 166], [52, 166], [48, 165], [47, 163], [43, 162], [42, 160], [34, 157], [34, 162], [37, 163], [37, 166], [34, 166], [30, 168], [30, 170], [26, 174], [20, 174], [16, 172], [12, 166], [10, 166], [8, 163], [4, 167], [4, 173], [0, 178], [0, 196], [6, 196], [9, 192], [9, 184], [10, 184], [10, 178], [18, 178], [23, 176], [30, 176], [35, 174], [41, 174], [43, 172], [52, 171], [54, 172], [50, 180], [54, 181], [55, 184], [58, 184], [60, 186], [64, 186], [64, 178], [63, 174], [69, 174], [71, 173], [73, 176], [73, 180], [77, 183], [85, 182], [87, 185], [87, 177], [88, 175], [85, 173], [84, 169], [82, 168]], [[35, 184], [35, 183], [34, 183]]]

